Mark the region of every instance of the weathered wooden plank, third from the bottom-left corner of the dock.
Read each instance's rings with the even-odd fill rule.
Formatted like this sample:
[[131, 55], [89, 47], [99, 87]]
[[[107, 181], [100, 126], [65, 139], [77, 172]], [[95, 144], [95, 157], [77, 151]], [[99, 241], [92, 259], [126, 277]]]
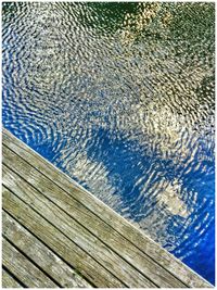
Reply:
[[5, 212], [2, 234], [62, 288], [91, 288], [84, 278]]

